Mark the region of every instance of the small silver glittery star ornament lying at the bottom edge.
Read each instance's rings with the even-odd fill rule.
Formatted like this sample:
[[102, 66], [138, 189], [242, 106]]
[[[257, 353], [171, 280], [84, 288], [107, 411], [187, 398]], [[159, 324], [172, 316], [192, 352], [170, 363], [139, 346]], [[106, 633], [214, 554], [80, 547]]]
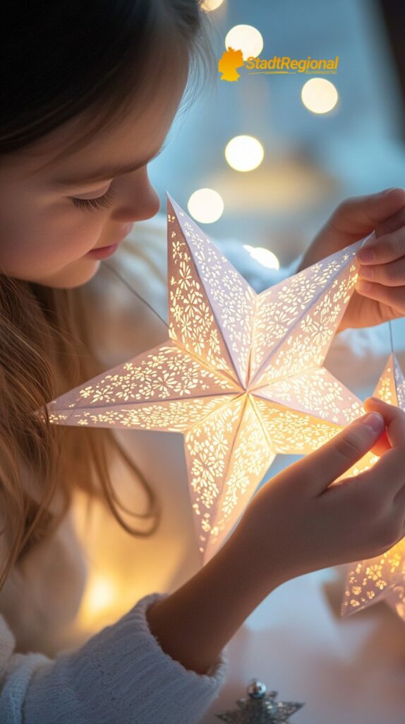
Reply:
[[261, 681], [254, 681], [248, 687], [248, 696], [236, 702], [239, 711], [216, 714], [229, 724], [289, 724], [289, 717], [302, 709], [304, 704], [298, 702], [276, 702], [276, 691], [266, 694], [266, 686]]

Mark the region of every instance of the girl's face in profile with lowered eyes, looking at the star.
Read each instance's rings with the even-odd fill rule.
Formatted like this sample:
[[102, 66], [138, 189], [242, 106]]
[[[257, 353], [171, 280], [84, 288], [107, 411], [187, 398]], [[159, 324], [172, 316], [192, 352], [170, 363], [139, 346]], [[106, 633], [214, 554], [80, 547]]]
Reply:
[[140, 116], [135, 109], [68, 159], [52, 161], [82, 132], [79, 116], [29, 150], [1, 159], [0, 271], [50, 287], [77, 287], [100, 265], [90, 250], [116, 244], [133, 222], [157, 214], [147, 163], [160, 151], [185, 81], [172, 80], [170, 95], [160, 91]]

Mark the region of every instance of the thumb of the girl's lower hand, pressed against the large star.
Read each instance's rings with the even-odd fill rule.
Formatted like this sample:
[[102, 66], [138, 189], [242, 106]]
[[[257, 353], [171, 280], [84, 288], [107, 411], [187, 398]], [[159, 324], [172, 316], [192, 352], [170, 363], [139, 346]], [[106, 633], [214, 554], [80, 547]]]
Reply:
[[300, 484], [312, 494], [321, 494], [339, 476], [357, 463], [378, 441], [386, 427], [380, 413], [370, 412], [354, 420], [326, 445], [298, 463]]

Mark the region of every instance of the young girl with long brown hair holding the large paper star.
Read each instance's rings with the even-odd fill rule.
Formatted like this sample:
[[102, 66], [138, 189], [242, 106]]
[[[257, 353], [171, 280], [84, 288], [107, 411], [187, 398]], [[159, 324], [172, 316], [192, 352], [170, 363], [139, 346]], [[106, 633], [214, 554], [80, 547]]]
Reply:
[[[100, 259], [159, 209], [147, 163], [162, 148], [188, 77], [196, 88], [196, 59], [212, 67], [204, 22], [198, 0], [15, 0], [1, 11], [0, 721], [7, 724], [198, 722], [224, 681], [222, 649], [276, 586], [379, 555], [404, 535], [405, 416], [370, 399], [366, 416], [264, 485], [222, 550], [175, 593], [134, 602], [73, 652], [43, 653], [49, 629], [67, 625], [82, 594], [82, 574], [66, 554], [75, 545], [69, 526], [64, 547], [58, 538], [74, 489], [105, 501], [134, 535], [156, 525], [147, 481], [149, 507], [138, 517], [149, 531], [120, 513], [113, 453], [142, 478], [110, 430], [43, 424], [35, 411], [103, 371], [91, 348], [97, 308], [87, 290]], [[342, 329], [405, 313], [404, 205], [401, 189], [350, 199], [306, 254], [302, 266], [376, 230], [359, 255], [362, 282]], [[385, 429], [389, 450], [378, 443]], [[371, 449], [381, 455], [372, 470], [331, 486]], [[34, 619], [21, 615], [32, 588], [43, 623], [33, 652]]]

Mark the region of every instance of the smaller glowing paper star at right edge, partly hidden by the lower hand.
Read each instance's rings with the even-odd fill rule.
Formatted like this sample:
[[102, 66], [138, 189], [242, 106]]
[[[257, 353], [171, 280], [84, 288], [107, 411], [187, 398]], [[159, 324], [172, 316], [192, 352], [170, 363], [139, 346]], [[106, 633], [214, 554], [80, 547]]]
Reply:
[[[405, 412], [405, 379], [394, 355], [388, 359], [374, 396]], [[341, 614], [356, 613], [381, 600], [405, 620], [405, 538], [383, 555], [350, 566]]]

